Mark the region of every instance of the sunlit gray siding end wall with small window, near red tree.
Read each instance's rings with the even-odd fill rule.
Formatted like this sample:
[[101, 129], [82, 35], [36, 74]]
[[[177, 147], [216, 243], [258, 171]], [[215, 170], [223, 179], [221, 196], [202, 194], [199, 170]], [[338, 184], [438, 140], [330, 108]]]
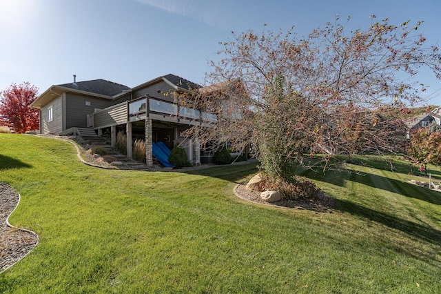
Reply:
[[[48, 109], [52, 107], [52, 121], [48, 121]], [[40, 132], [42, 134], [56, 134], [63, 130], [63, 95], [55, 98], [41, 108]]]

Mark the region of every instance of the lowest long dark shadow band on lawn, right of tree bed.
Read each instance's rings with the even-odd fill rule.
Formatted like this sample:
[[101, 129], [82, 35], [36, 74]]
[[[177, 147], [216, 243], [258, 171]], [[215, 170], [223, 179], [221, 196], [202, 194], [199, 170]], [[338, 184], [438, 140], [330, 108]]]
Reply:
[[399, 217], [393, 217], [387, 213], [380, 213], [377, 210], [372, 210], [365, 206], [360, 206], [353, 202], [342, 199], [335, 200], [335, 209], [342, 212], [350, 213], [351, 215], [356, 215], [360, 217], [365, 217], [373, 222], [378, 222], [388, 226], [389, 228], [394, 228], [396, 230], [402, 231], [403, 233], [417, 237], [426, 242], [430, 242], [435, 245], [441, 244], [441, 231], [435, 228], [430, 228], [429, 226], [422, 226], [414, 222], [400, 219]]

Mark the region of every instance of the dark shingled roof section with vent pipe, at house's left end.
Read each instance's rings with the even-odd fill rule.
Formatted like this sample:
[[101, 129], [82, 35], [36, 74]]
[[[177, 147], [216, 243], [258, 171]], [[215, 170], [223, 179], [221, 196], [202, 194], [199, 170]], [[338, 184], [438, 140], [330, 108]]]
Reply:
[[123, 91], [130, 90], [130, 88], [127, 86], [116, 84], [113, 81], [106, 81], [105, 79], [78, 81], [76, 83], [61, 84], [57, 86], [105, 96], [114, 96], [120, 94]]

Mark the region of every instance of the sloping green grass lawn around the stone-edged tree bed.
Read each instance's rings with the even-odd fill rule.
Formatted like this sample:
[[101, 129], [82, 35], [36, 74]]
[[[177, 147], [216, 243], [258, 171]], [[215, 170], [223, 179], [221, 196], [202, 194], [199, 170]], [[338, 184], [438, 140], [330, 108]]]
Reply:
[[40, 237], [0, 293], [441, 293], [441, 193], [372, 166], [299, 171], [336, 199], [317, 213], [238, 199], [256, 164], [103, 170], [0, 134], [0, 182], [22, 197], [10, 223]]

